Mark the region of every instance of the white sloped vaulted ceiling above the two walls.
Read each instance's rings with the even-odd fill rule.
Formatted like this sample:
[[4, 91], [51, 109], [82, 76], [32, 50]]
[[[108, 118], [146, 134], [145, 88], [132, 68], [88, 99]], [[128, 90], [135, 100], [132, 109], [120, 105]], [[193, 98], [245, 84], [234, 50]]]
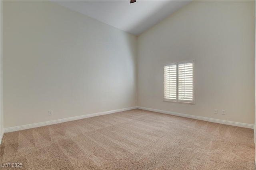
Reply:
[[192, 0], [56, 0], [108, 25], [139, 35]]

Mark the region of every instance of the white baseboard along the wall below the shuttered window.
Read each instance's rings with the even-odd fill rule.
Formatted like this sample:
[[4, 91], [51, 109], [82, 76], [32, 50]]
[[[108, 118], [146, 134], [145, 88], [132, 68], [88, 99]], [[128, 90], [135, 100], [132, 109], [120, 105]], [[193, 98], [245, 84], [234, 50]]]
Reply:
[[169, 111], [165, 111], [165, 110], [158, 110], [158, 109], [152, 109], [152, 108], [144, 108], [144, 107], [140, 107], [140, 106], [138, 106], [138, 109], [148, 110], [148, 111], [158, 112], [158, 113], [164, 113], [164, 114], [170, 114], [170, 115], [174, 115], [174, 116], [181, 116], [181, 117], [185, 117], [185, 118], [204, 120], [204, 121], [208, 121], [208, 122], [227, 124], [227, 125], [231, 125], [231, 126], [238, 126], [238, 127], [242, 127], [242, 128], [254, 129], [254, 125], [253, 124], [246, 124], [246, 123], [240, 123], [240, 122], [232, 122], [232, 121], [228, 121], [228, 120], [220, 120], [220, 119], [214, 119], [214, 118], [206, 118], [206, 117], [194, 116], [194, 115], [189, 115], [189, 114], [169, 112]]

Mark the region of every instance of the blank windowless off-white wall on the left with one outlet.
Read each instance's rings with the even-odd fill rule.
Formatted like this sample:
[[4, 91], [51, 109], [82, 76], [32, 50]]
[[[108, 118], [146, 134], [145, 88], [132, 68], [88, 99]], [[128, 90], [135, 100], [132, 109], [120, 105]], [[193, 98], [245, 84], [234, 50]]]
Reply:
[[4, 128], [136, 106], [136, 41], [49, 1], [4, 1]]

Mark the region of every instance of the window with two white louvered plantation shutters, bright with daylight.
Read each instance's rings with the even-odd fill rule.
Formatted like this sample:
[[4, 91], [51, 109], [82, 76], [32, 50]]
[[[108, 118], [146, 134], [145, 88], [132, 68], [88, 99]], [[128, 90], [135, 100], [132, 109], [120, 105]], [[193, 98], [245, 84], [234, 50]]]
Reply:
[[164, 65], [164, 101], [195, 104], [195, 60]]

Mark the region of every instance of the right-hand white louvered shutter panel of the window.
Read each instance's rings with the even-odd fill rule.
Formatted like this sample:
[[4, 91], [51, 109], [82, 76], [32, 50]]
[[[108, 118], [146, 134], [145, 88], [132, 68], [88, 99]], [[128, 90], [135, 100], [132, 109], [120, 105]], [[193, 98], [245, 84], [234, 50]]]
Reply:
[[178, 64], [178, 100], [193, 100], [193, 62]]

